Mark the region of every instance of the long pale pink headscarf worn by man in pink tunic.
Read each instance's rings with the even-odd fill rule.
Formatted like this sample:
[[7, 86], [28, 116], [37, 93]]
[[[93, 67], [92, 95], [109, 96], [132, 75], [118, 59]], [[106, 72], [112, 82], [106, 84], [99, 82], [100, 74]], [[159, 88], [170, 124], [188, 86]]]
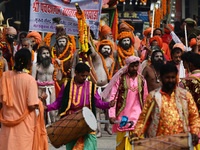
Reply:
[[[115, 75], [112, 77], [112, 79], [110, 80], [109, 84], [107, 85], [107, 87], [104, 89], [104, 91], [101, 93], [101, 96], [104, 99], [109, 99], [110, 98], [110, 94], [111, 94], [111, 90], [114, 86], [114, 84], [119, 80], [119, 77], [121, 77], [122, 74], [126, 73], [128, 71], [128, 66], [133, 63], [133, 62], [140, 62], [140, 58], [137, 56], [130, 56], [127, 57], [125, 59], [125, 64], [123, 68], [121, 68], [119, 71], [117, 71], [117, 73], [115, 73]], [[141, 65], [139, 65], [139, 69], [138, 69], [138, 73], [140, 72], [140, 68]]]

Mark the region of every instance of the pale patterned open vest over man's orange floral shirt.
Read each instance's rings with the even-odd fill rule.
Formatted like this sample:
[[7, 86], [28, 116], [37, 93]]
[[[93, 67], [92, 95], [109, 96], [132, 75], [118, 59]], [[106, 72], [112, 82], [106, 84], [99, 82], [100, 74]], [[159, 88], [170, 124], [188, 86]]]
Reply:
[[[162, 95], [160, 93], [160, 89], [157, 89], [152, 92], [153, 95], [153, 100], [156, 101], [155, 106], [152, 110], [152, 113], [150, 115], [151, 122], [146, 130], [145, 136], [152, 138], [156, 137], [157, 130], [158, 130], [158, 124], [160, 120], [160, 112], [161, 112], [161, 107], [162, 107]], [[175, 101], [176, 101], [176, 106], [180, 115], [180, 118], [183, 122], [183, 128], [184, 132], [188, 131], [188, 103], [187, 103], [187, 97], [186, 97], [186, 90], [176, 87], [175, 89]]]

